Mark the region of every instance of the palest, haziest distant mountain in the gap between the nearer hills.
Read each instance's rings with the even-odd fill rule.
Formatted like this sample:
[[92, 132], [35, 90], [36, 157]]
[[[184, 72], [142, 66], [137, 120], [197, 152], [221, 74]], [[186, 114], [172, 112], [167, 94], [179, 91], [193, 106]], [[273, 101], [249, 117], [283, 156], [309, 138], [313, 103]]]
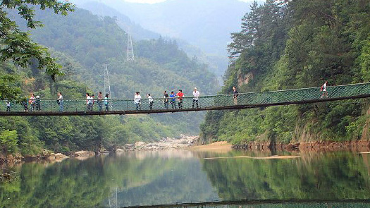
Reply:
[[[119, 0], [72, 2], [95, 14], [117, 16], [118, 25], [124, 29], [128, 27], [125, 19], [129, 17], [145, 29], [175, 39], [181, 49], [190, 57], [197, 56], [209, 65], [209, 70], [221, 80], [228, 66], [226, 46], [231, 40], [230, 32], [239, 30], [240, 18], [252, 1], [170, 0], [157, 4], [135, 4]], [[134, 39], [143, 37], [141, 30], [137, 30], [138, 25], [131, 24], [129, 27]]]

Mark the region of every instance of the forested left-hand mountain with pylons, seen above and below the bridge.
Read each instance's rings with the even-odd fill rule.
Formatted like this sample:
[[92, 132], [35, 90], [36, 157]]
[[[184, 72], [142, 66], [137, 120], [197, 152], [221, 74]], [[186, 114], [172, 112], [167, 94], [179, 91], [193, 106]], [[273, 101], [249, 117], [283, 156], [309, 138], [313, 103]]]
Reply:
[[[13, 19], [24, 25], [16, 11]], [[161, 97], [164, 90], [183, 89], [190, 95], [193, 87], [202, 94], [214, 94], [216, 76], [207, 66], [187, 57], [171, 40], [150, 39], [134, 42], [135, 61], [127, 61], [127, 33], [114, 18], [99, 20], [89, 11], [76, 8], [68, 16], [50, 11], [36, 11], [44, 27], [30, 30], [32, 39], [51, 49], [63, 66], [64, 76], [52, 82], [39, 72], [37, 64], [20, 68], [3, 63], [1, 74], [16, 77], [25, 97], [30, 93], [42, 98], [85, 98], [104, 89], [104, 64], [111, 77], [111, 97], [132, 97], [135, 91]], [[26, 29], [25, 27], [23, 29]], [[90, 117], [7, 117], [0, 118], [1, 137], [11, 141], [5, 149], [35, 154], [41, 147], [69, 152], [77, 149], [99, 150], [102, 147], [178, 137], [181, 133], [196, 134], [204, 114], [164, 114], [158, 116], [90, 116]]]

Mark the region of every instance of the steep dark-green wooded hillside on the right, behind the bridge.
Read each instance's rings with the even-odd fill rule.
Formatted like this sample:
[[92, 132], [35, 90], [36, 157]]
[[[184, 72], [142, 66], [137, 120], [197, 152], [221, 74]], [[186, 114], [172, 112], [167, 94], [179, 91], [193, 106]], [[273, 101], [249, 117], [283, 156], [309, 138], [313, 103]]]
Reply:
[[[369, 82], [369, 19], [370, 3], [362, 0], [254, 3], [232, 34], [222, 92]], [[201, 128], [204, 142], [275, 144], [369, 140], [369, 122], [362, 100], [215, 111]]]

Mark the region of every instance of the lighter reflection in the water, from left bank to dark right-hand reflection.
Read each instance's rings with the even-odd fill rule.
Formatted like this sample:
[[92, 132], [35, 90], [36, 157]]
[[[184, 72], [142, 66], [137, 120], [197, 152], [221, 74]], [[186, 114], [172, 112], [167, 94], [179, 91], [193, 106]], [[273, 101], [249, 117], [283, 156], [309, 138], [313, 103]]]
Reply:
[[[147, 155], [146, 155], [147, 154]], [[217, 200], [190, 152], [132, 152], [16, 167], [21, 180], [0, 184], [2, 207], [104, 207]], [[9, 199], [8, 199], [9, 198]]]

